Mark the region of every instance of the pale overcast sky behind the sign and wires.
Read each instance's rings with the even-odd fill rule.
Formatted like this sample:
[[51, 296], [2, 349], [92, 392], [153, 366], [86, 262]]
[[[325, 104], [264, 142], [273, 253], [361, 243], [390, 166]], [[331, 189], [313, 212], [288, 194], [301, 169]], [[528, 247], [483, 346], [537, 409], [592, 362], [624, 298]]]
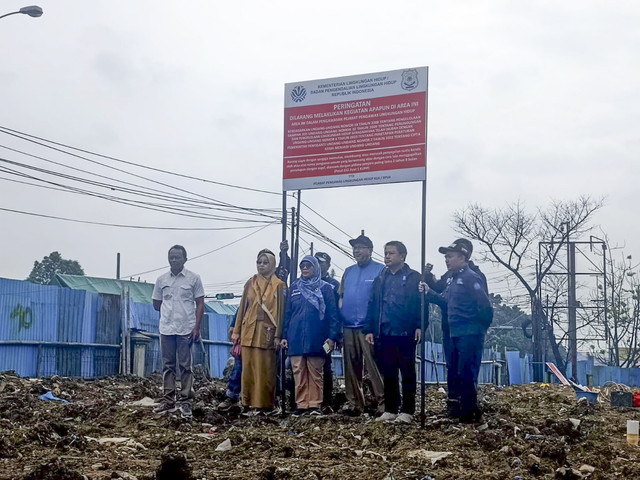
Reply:
[[[1, 15], [24, 3], [0, 5]], [[500, 207], [520, 199], [534, 209], [551, 199], [606, 196], [595, 223], [627, 253], [640, 254], [638, 2], [39, 5], [40, 18], [0, 20], [2, 127], [160, 170], [280, 192], [285, 83], [428, 66], [427, 258], [437, 273], [444, 270], [438, 246], [457, 237], [451, 215], [470, 202]], [[70, 168], [0, 148], [3, 160], [68, 175], [86, 178], [80, 171], [86, 170], [175, 195], [268, 209], [270, 216], [281, 209], [278, 195], [90, 157], [150, 179], [144, 180], [4, 133], [0, 145]], [[5, 161], [0, 167], [26, 171]], [[29, 174], [36, 179], [21, 181], [46, 178], [99, 190]], [[165, 267], [168, 247], [180, 243], [193, 259], [187, 268], [202, 276], [208, 294], [240, 293], [255, 271], [256, 252], [276, 250], [280, 240], [277, 223], [169, 215], [7, 179], [18, 177], [0, 172], [3, 209], [132, 226], [254, 227], [141, 230], [0, 211], [0, 275], [7, 278], [26, 278], [34, 260], [57, 250], [99, 277], [115, 276], [120, 252], [123, 276], [152, 282], [162, 270], [141, 272]], [[402, 240], [408, 263], [419, 269], [420, 189], [413, 183], [304, 191], [302, 200], [342, 231], [306, 207], [302, 215], [340, 243], [364, 229], [379, 253], [385, 241]], [[332, 255], [338, 276], [352, 263], [309, 235], [302, 239], [304, 249], [313, 241]], [[490, 275], [490, 290], [505, 294], [500, 278]]]

